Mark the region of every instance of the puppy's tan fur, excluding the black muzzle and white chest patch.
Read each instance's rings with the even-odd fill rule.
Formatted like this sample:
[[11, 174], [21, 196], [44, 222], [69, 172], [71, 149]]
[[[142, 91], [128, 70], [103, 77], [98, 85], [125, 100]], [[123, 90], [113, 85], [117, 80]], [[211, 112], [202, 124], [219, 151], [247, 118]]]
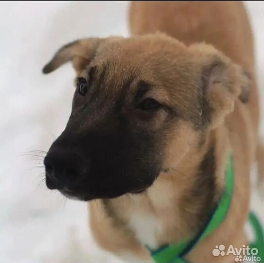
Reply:
[[[149, 262], [149, 252], [135, 229], [137, 217], [150, 218], [153, 248], [192, 237], [210, 212], [211, 204], [202, 211], [208, 200], [217, 202], [224, 190], [226, 153], [230, 150], [235, 187], [229, 214], [187, 259], [195, 263], [234, 262], [231, 256], [213, 257], [211, 251], [218, 244], [242, 247], [247, 243], [244, 226], [249, 209], [250, 168], [259, 142], [259, 107], [253, 40], [243, 3], [138, 1], [132, 2], [129, 16], [131, 38], [76, 41], [59, 50], [43, 70], [49, 73], [72, 61], [77, 75], [87, 77], [88, 69], [94, 64], [99, 74], [111, 61], [112, 67], [102, 84], [108, 101], [122, 92], [128, 76], [134, 74], [137, 77], [127, 94], [135, 94], [139, 80], [149, 82], [156, 89], [147, 95], [176, 108], [179, 115], [179, 121], [167, 126], [166, 111], [158, 112], [149, 122], [138, 121], [135, 114], [128, 116], [135, 129], [140, 126], [165, 134], [163, 169], [154, 184], [141, 194], [90, 202], [90, 225], [95, 240], [117, 256], [133, 254]], [[162, 34], [156, 34], [158, 31]], [[251, 81], [245, 70], [250, 73]], [[198, 87], [203, 85], [206, 85], [203, 96], [210, 110], [196, 103], [201, 97]], [[245, 104], [249, 90], [250, 99]], [[94, 113], [93, 121], [103, 111]], [[209, 112], [210, 116], [204, 120]], [[139, 114], [141, 120], [146, 118]], [[210, 195], [209, 187], [203, 193], [199, 192], [203, 185], [201, 189], [194, 186], [200, 165], [212, 146], [216, 186]], [[259, 161], [263, 155], [263, 149], [258, 146]], [[263, 164], [260, 171], [263, 173]]]

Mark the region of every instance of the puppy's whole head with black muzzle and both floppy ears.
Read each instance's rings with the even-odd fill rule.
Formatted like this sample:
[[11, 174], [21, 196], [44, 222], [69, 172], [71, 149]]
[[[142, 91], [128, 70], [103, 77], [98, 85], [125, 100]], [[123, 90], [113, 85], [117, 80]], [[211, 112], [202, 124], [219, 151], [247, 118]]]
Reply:
[[80, 200], [150, 187], [248, 90], [241, 69], [211, 46], [165, 35], [75, 41], [43, 72], [69, 60], [72, 112], [44, 164], [48, 188]]

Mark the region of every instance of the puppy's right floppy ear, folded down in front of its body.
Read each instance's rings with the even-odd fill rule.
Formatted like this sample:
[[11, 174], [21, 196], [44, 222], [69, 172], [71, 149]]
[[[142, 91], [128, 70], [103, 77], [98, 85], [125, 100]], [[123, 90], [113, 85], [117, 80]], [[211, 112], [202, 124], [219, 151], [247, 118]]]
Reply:
[[236, 100], [249, 100], [251, 77], [210, 45], [194, 44], [196, 63], [201, 67], [203, 93], [202, 115], [205, 123], [215, 128], [234, 110]]

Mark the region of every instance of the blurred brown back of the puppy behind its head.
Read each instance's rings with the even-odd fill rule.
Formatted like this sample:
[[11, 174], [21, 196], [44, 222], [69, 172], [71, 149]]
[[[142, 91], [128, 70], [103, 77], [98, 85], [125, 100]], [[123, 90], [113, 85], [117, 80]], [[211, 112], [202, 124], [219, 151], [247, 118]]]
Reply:
[[254, 43], [241, 1], [134, 1], [129, 20], [133, 35], [164, 32], [187, 45], [206, 42], [248, 71], [252, 77], [248, 107], [255, 131], [253, 145], [257, 145], [259, 105]]

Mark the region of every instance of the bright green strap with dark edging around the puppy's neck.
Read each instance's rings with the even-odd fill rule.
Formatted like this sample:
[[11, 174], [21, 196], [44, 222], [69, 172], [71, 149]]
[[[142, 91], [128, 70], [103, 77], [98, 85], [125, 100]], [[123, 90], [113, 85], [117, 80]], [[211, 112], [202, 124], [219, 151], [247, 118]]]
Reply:
[[[187, 239], [187, 240], [183, 240], [178, 244], [169, 244], [166, 246], [162, 246], [157, 250], [151, 250], [148, 248], [154, 262], [155, 263], [188, 263], [188, 261], [184, 259], [185, 255], [187, 255], [199, 242], [201, 242], [203, 239], [209, 236], [225, 220], [232, 201], [233, 188], [234, 188], [233, 160], [231, 154], [229, 153], [228, 165], [226, 170], [226, 189], [220, 199], [218, 206], [213, 211], [207, 225], [205, 225], [202, 231], [200, 231], [200, 233], [194, 239]], [[250, 222], [256, 220], [256, 218], [253, 217], [252, 214], [250, 214], [250, 216], [251, 216]], [[261, 229], [261, 226], [259, 227]], [[256, 229], [254, 225], [253, 228]], [[258, 237], [258, 240], [261, 239], [263, 239], [263, 235]], [[257, 242], [255, 243], [257, 244]], [[263, 249], [262, 247], [264, 247], [264, 242], [262, 243], [260, 242], [259, 245], [260, 245], [259, 246], [260, 249]]]

